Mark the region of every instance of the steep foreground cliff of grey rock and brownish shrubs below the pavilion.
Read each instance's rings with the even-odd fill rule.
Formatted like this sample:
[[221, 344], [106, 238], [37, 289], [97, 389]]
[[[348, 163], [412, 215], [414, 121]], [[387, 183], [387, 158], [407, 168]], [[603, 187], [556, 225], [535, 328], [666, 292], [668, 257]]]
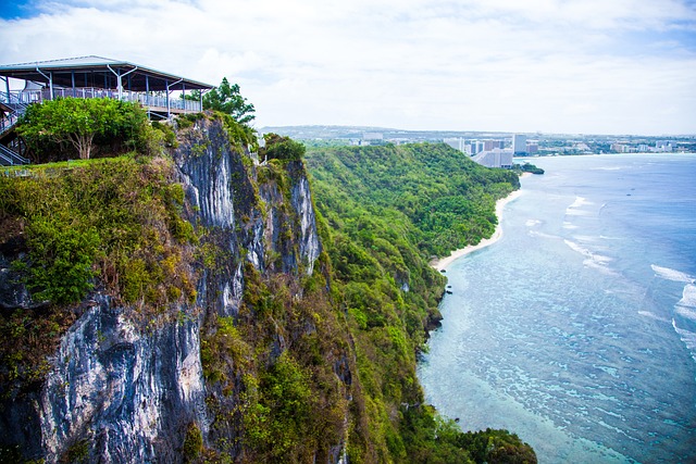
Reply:
[[[137, 215], [149, 223], [144, 233], [159, 234], [152, 249], [122, 238], [117, 247], [130, 248], [132, 254], [117, 273], [120, 262], [110, 262], [113, 250], [98, 244], [101, 251], [90, 263], [94, 288], [76, 302], [29, 297], [45, 289], [33, 288], [35, 274], [22, 274], [16, 263], [37, 264], [29, 252], [36, 244], [33, 227], [46, 212], [23, 203], [33, 201], [25, 193], [58, 189], [57, 196], [79, 203], [80, 192], [70, 188], [78, 179], [104, 185], [119, 179], [97, 162], [2, 179], [5, 199], [14, 199], [2, 210], [3, 329], [14, 328], [14, 342], [36, 351], [22, 355], [3, 349], [4, 459], [263, 461], [299, 453], [318, 462], [339, 461], [352, 366], [349, 340], [328, 304], [302, 163], [259, 166], [223, 120], [182, 123], [189, 127], [179, 127], [171, 159], [116, 162], [125, 166], [117, 170], [123, 176], [147, 176], [139, 187], [149, 190], [148, 201], [133, 202], [137, 192], [114, 185], [108, 193], [116, 197], [113, 202], [150, 210]], [[183, 189], [179, 201], [167, 198], [166, 192], [176, 192], [172, 186]], [[175, 214], [158, 214], [162, 209]], [[99, 224], [86, 229], [91, 227]], [[142, 258], [150, 253], [150, 260]], [[133, 263], [156, 280], [135, 298], [124, 281], [138, 268]], [[167, 266], [174, 267], [172, 276], [154, 277], [167, 274]], [[167, 284], [164, 299], [148, 294]], [[28, 338], [40, 336], [36, 330], [47, 314], [61, 334], [53, 334], [52, 344], [33, 344]], [[333, 334], [318, 335], [332, 324]], [[326, 343], [331, 349], [324, 351]], [[311, 352], [300, 352], [306, 349]], [[308, 355], [315, 356], [313, 365]], [[273, 431], [277, 436], [263, 436]]]

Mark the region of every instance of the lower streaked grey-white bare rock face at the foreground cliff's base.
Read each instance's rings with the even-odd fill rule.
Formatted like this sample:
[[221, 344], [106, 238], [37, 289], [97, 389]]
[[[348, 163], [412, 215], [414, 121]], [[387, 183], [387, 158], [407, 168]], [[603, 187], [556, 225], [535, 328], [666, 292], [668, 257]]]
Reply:
[[86, 441], [90, 462], [174, 462], [186, 426], [207, 425], [199, 322], [144, 334], [108, 297], [98, 303], [52, 360], [38, 405], [44, 457]]

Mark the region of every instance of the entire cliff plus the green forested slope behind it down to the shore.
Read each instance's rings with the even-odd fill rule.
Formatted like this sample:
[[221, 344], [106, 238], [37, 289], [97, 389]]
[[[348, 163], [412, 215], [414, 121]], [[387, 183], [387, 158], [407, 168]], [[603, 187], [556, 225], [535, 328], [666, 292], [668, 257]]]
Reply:
[[0, 462], [535, 462], [415, 376], [427, 253], [485, 233], [507, 174], [417, 146], [308, 154], [312, 180], [228, 116], [152, 130], [0, 176]]

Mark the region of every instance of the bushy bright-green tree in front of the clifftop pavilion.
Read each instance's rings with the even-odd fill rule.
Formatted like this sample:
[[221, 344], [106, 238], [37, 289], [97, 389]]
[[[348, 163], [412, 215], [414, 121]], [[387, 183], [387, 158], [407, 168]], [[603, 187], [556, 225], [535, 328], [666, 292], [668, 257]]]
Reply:
[[96, 136], [136, 139], [146, 121], [147, 115], [136, 103], [60, 98], [30, 105], [17, 125], [17, 133], [30, 145], [41, 139], [70, 142], [79, 158], [87, 160]]

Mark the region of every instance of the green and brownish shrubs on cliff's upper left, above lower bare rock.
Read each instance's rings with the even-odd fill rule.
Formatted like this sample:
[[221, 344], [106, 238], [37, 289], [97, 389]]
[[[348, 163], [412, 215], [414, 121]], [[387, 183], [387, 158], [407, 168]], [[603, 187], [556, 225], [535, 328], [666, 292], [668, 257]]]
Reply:
[[195, 297], [179, 244], [196, 236], [172, 175], [169, 161], [122, 156], [0, 177], [0, 218], [23, 225], [29, 252], [14, 267], [34, 299], [78, 302], [95, 276], [125, 303], [165, 306], [169, 286]]

